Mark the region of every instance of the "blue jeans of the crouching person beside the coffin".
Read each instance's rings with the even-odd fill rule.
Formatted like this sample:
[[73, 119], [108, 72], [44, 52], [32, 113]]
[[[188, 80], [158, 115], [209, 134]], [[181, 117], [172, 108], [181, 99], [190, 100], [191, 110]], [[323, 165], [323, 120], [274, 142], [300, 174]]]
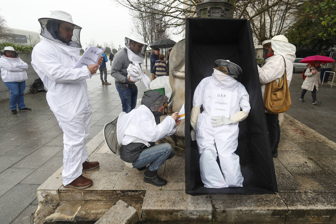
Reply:
[[149, 164], [148, 169], [155, 171], [174, 155], [175, 151], [169, 143], [158, 144], [144, 149], [132, 165], [134, 168], [141, 168]]

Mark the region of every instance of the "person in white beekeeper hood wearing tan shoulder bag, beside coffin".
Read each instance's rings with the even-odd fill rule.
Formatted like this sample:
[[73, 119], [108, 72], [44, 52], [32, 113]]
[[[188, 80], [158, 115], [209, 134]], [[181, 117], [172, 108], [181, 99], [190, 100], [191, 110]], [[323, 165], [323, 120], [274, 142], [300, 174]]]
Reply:
[[[265, 64], [262, 68], [258, 66], [258, 72], [262, 98], [264, 98], [266, 84], [273, 80], [277, 80], [279, 83], [280, 78], [284, 75], [285, 61], [288, 86], [291, 83], [296, 47], [293, 44], [288, 43], [288, 39], [284, 35], [277, 35], [270, 40], [265, 40], [262, 42], [262, 45], [264, 47], [263, 57], [265, 59]], [[272, 156], [277, 158], [278, 144], [280, 141], [278, 114], [270, 114], [265, 110], [265, 115]]]

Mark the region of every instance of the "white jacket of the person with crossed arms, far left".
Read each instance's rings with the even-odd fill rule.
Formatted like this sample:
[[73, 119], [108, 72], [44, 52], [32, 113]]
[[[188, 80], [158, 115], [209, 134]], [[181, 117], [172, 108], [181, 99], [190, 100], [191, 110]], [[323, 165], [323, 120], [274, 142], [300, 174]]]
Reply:
[[6, 57], [5, 55], [0, 58], [1, 78], [4, 82], [23, 82], [28, 79], [26, 70], [28, 64], [17, 58]]

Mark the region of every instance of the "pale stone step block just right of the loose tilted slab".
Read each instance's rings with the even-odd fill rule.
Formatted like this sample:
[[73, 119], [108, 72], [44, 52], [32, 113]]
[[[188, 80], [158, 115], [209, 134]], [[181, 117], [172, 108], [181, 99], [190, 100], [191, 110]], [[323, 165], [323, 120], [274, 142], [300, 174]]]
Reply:
[[193, 196], [183, 190], [147, 190], [142, 204], [142, 220], [209, 222], [210, 195]]

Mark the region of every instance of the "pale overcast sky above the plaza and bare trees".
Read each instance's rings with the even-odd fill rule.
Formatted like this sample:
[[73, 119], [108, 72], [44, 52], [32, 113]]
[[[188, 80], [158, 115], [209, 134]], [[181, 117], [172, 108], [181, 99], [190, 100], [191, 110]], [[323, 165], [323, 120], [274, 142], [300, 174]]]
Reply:
[[[72, 15], [72, 20], [81, 26], [81, 44], [85, 49], [91, 38], [96, 43], [111, 43], [115, 47], [125, 46], [125, 36], [131, 34], [131, 18], [129, 12], [111, 0], [0, 0], [0, 15], [7, 26], [15, 29], [29, 30], [40, 33], [38, 18], [48, 17], [50, 10], [62, 10]], [[178, 42], [182, 37], [172, 35], [171, 39]]]

